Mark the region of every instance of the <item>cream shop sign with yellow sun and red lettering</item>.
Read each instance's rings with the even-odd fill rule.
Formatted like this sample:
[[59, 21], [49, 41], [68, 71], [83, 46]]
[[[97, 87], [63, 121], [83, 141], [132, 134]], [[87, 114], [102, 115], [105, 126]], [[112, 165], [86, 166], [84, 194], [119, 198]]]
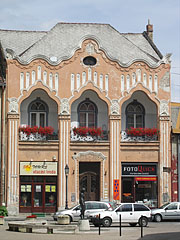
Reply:
[[57, 162], [20, 162], [20, 175], [57, 176]]

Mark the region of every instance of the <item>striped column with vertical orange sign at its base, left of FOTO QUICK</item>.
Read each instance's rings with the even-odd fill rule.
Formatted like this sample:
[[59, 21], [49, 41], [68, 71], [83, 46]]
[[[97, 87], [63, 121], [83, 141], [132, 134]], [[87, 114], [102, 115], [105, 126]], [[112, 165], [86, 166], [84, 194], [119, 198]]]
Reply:
[[121, 199], [120, 124], [118, 100], [112, 100], [110, 126], [110, 200]]

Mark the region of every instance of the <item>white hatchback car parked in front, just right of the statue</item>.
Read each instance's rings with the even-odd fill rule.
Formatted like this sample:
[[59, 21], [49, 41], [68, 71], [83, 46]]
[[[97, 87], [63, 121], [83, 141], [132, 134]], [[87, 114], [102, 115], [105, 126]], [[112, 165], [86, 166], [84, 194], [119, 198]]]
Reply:
[[118, 223], [120, 221], [120, 215], [122, 223], [129, 223], [130, 226], [136, 226], [138, 223], [140, 226], [145, 227], [151, 218], [151, 210], [140, 203], [121, 203], [114, 210], [92, 213], [89, 219], [94, 226], [101, 224], [104, 227], [110, 227], [112, 223]]

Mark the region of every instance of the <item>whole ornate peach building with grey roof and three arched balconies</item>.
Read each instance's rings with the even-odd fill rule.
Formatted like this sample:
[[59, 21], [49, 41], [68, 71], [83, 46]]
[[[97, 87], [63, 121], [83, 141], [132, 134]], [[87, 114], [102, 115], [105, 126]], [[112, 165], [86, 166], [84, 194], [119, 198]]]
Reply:
[[72, 206], [82, 188], [86, 200], [171, 200], [170, 56], [150, 23], [139, 34], [58, 23], [0, 40], [11, 213]]

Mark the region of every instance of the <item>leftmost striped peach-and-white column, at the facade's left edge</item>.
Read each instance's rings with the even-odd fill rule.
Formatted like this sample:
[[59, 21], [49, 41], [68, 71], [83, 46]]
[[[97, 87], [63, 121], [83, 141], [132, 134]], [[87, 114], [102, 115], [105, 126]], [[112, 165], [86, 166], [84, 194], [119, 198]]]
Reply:
[[11, 215], [19, 212], [19, 179], [18, 179], [18, 128], [19, 114], [16, 98], [9, 99], [7, 137], [7, 207]]

